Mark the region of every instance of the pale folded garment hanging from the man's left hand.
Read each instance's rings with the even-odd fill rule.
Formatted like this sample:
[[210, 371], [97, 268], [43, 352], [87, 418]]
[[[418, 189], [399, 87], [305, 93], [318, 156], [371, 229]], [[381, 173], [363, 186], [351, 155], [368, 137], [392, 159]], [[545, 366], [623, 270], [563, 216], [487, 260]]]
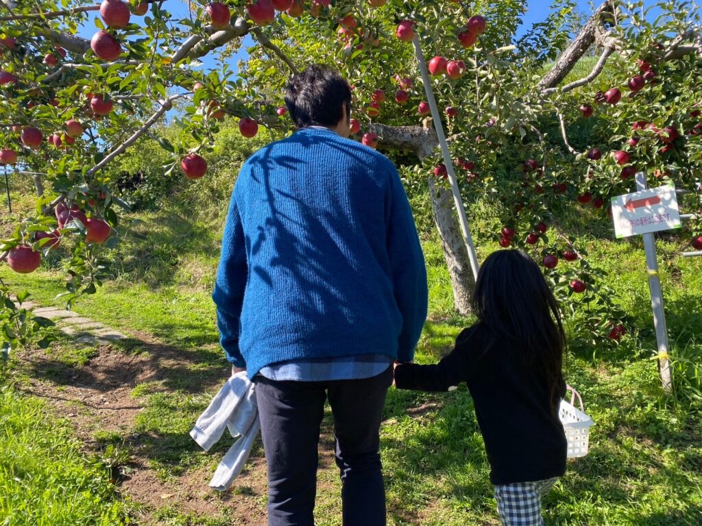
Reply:
[[225, 429], [238, 438], [210, 480], [210, 487], [218, 491], [227, 490], [239, 476], [260, 431], [255, 386], [244, 371], [232, 375], [222, 386], [195, 422], [190, 436], [208, 451], [222, 438]]

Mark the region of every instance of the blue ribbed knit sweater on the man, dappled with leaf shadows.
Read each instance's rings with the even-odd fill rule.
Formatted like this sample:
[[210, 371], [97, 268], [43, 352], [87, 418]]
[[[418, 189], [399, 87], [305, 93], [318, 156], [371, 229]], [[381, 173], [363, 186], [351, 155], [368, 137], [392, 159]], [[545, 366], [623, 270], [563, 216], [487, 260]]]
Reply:
[[227, 359], [250, 378], [283, 360], [411, 360], [427, 296], [416, 227], [387, 157], [305, 128], [244, 163], [212, 297]]

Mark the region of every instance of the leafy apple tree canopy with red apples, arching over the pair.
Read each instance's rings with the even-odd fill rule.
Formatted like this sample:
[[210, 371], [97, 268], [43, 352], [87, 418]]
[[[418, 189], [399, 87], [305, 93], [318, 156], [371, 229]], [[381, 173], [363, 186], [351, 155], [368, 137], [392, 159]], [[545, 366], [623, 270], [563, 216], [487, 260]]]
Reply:
[[[461, 313], [470, 309], [472, 272], [425, 88], [444, 111], [464, 201], [490, 198], [493, 227], [478, 238], [534, 255], [566, 308], [591, 314], [592, 337], [618, 339], [625, 315], [611, 302], [606, 276], [559, 223], [564, 210], [606, 218], [607, 199], [631, 191], [638, 169], [651, 184], [689, 190], [684, 198], [700, 206], [702, 42], [689, 1], [647, 11], [641, 1], [607, 0], [583, 20], [574, 1], [557, 0], [519, 40], [526, 10], [519, 0], [189, 5], [182, 19], [166, 1], [3, 5], [0, 163], [31, 178], [37, 208], [2, 241], [0, 259], [31, 272], [64, 245], [68, 304], [109, 276], [105, 250], [124, 234], [129, 205], [104, 168], [152, 137], [170, 156], [164, 170], [206, 177], [222, 119], [237, 119], [244, 137], [291, 130], [282, 88], [310, 62], [335, 65], [352, 83], [352, 137], [402, 156], [406, 184], [428, 184]], [[98, 11], [92, 39], [77, 36]], [[431, 86], [418, 72], [415, 35], [430, 58]], [[245, 36], [254, 45], [234, 75], [227, 59]], [[593, 53], [592, 71], [566, 82]], [[222, 67], [202, 72], [205, 55]], [[156, 125], [174, 107], [179, 135], [168, 140]], [[569, 140], [593, 116], [601, 124], [590, 140]], [[698, 246], [701, 234], [694, 223], [686, 235]], [[47, 321], [16, 306], [4, 284], [0, 294], [8, 350]]]

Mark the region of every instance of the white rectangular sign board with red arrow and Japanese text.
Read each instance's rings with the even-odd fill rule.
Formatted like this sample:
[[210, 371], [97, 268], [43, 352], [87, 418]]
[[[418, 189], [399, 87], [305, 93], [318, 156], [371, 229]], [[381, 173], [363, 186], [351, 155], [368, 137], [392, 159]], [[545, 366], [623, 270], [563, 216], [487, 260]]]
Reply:
[[612, 219], [617, 238], [680, 228], [675, 187], [635, 191], [612, 198]]

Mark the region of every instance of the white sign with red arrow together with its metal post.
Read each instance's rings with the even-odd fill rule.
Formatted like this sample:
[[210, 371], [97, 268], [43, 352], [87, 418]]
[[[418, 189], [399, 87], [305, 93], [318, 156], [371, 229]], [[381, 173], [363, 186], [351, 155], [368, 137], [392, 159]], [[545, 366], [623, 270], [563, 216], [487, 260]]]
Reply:
[[658, 260], [654, 232], [680, 228], [680, 211], [677, 208], [675, 187], [665, 186], [648, 189], [645, 173], [636, 174], [633, 194], [614, 197], [611, 200], [614, 231], [617, 238], [642, 234], [646, 252], [646, 267], [649, 274], [651, 306], [654, 311], [654, 327], [658, 342], [658, 370], [661, 373], [663, 391], [671, 393], [670, 363], [668, 363], [668, 326], [665, 324], [661, 278], [658, 277]]

